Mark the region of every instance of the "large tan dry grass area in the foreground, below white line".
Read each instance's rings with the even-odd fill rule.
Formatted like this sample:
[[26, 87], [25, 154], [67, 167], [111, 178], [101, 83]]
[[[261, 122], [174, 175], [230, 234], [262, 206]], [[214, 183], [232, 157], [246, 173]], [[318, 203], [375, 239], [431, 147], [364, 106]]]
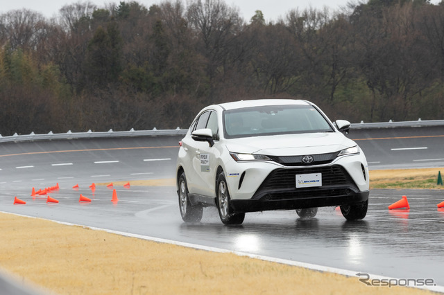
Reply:
[[0, 231], [0, 266], [58, 294], [425, 292], [4, 213]]

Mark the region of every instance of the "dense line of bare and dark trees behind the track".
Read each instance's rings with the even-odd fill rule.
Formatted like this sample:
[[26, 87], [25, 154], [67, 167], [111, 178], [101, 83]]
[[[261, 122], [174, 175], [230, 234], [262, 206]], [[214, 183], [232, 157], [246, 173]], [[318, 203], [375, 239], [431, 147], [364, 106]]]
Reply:
[[223, 0], [0, 15], [0, 134], [187, 128], [206, 105], [315, 102], [352, 122], [444, 117], [444, 3], [246, 20]]

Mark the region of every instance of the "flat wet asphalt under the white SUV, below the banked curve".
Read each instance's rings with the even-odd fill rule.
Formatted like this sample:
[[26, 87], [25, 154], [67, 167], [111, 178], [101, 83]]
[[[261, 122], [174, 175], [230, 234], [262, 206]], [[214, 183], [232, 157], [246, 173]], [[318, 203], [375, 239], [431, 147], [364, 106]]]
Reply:
[[[79, 193], [92, 202], [79, 204]], [[60, 189], [53, 195], [59, 204], [37, 197], [14, 206], [12, 196], [0, 203], [2, 211], [22, 215], [394, 278], [432, 278], [444, 285], [444, 211], [436, 208], [444, 191], [372, 190], [368, 215], [359, 222], [347, 222], [340, 211], [326, 207], [311, 220], [294, 211], [248, 213], [244, 224], [234, 227], [223, 226], [214, 208], [205, 208], [199, 224], [183, 223], [171, 187], [121, 187], [117, 194], [117, 204], [107, 188], [98, 188], [94, 197], [87, 188]], [[388, 211], [402, 195], [410, 210]]]

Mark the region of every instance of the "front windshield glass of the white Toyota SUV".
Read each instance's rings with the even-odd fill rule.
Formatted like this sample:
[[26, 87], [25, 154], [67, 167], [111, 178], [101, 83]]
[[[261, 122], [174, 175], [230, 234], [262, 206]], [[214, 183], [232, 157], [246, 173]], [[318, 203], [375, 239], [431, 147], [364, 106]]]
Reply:
[[232, 109], [223, 113], [225, 138], [333, 132], [311, 105], [270, 105]]

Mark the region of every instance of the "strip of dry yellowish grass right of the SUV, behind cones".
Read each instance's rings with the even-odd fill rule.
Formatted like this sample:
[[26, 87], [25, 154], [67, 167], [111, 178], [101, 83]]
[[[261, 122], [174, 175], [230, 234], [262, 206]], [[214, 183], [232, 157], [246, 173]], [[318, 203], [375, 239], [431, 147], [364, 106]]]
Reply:
[[444, 168], [370, 170], [370, 188], [443, 189], [436, 184], [439, 171], [444, 177]]

